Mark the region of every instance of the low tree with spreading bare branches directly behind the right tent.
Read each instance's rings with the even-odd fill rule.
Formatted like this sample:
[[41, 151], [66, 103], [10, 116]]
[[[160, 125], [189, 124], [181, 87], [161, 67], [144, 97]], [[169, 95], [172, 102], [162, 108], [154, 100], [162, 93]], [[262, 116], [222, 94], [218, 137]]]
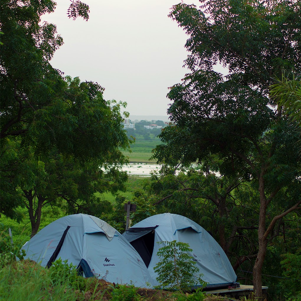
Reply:
[[[243, 231], [256, 229], [251, 215], [257, 209], [252, 203], [257, 196], [239, 177], [204, 174], [203, 169], [190, 169], [176, 176], [164, 172], [152, 175], [148, 193], [158, 211], [185, 215], [210, 229], [228, 257], [232, 252], [237, 256], [254, 255], [250, 245], [239, 251], [232, 249]], [[251, 253], [244, 253], [247, 251]]]

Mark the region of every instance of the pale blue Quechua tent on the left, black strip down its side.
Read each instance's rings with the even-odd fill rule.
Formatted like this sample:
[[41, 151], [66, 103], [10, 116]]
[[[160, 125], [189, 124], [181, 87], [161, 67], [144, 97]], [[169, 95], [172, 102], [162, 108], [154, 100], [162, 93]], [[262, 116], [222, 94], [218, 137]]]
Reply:
[[67, 259], [85, 277], [103, 277], [115, 283], [147, 287], [147, 268], [129, 242], [113, 227], [95, 216], [74, 214], [47, 225], [23, 249], [25, 259], [50, 267]]

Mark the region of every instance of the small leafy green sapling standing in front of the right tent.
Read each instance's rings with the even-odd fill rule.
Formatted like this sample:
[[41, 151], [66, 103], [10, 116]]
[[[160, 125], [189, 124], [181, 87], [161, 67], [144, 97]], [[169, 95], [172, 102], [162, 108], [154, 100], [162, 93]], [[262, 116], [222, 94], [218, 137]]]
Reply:
[[199, 274], [199, 269], [195, 266], [193, 257], [188, 254], [192, 252], [189, 244], [173, 241], [161, 241], [158, 244], [164, 244], [161, 247], [157, 256], [160, 261], [154, 267], [154, 271], [157, 273], [157, 281], [160, 285], [157, 288], [169, 288], [171, 290], [191, 290], [191, 287], [200, 282], [203, 285]]

